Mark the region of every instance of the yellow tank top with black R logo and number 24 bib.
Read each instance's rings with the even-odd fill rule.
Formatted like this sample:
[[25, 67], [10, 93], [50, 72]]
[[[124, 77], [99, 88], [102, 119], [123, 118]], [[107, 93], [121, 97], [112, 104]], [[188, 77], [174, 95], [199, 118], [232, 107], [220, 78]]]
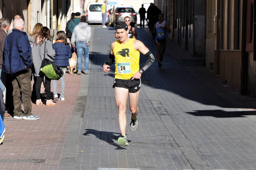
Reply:
[[128, 42], [121, 44], [119, 40], [115, 42], [113, 53], [115, 56], [115, 78], [128, 80], [139, 71], [140, 52], [133, 47], [131, 38]]

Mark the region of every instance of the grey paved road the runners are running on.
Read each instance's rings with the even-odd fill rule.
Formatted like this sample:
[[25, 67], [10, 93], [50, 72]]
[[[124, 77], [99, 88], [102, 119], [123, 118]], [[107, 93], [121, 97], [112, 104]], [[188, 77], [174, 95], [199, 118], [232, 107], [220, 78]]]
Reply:
[[[134, 132], [127, 126], [130, 146], [118, 146], [114, 67], [102, 72], [115, 30], [92, 30], [90, 74], [82, 78], [86, 90], [76, 106], [80, 110], [74, 112], [58, 169], [256, 169], [255, 108], [228, 98], [202, 75], [190, 72], [202, 60], [184, 60], [186, 52], [175, 51], [170, 40], [162, 69], [156, 62], [142, 76], [139, 126]], [[142, 28], [137, 33], [156, 56], [150, 34]], [[141, 56], [142, 65], [145, 61]], [[129, 124], [128, 107], [127, 118]], [[80, 152], [71, 153], [70, 145]]]

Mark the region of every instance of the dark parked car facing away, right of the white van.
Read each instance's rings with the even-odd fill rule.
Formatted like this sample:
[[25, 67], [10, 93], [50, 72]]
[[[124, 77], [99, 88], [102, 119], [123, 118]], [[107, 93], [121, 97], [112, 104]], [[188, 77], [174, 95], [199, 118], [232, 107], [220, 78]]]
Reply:
[[131, 25], [137, 27], [137, 13], [132, 7], [117, 7], [113, 17], [111, 17], [112, 26], [115, 27], [118, 22], [124, 21], [125, 16], [129, 16], [131, 19]]

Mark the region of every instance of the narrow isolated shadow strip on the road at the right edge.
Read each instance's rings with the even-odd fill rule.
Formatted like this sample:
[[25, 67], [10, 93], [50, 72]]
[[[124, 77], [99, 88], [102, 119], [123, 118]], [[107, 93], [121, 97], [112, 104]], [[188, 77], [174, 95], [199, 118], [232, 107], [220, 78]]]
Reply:
[[247, 115], [256, 115], [256, 111], [223, 111], [223, 110], [196, 110], [195, 112], [187, 112], [194, 116], [212, 116], [217, 118], [228, 117], [247, 117]]

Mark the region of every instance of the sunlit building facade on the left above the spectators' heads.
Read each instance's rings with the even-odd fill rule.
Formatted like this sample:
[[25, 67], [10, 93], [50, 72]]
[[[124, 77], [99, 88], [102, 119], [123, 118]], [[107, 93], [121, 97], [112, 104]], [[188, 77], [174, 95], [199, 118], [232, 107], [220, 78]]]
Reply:
[[[82, 12], [85, 0], [0, 0], [0, 18], [9, 18], [11, 28], [13, 16], [20, 14], [25, 22], [25, 30], [31, 33], [36, 23], [51, 30], [65, 31], [72, 12]], [[55, 31], [53, 31], [55, 30]]]

